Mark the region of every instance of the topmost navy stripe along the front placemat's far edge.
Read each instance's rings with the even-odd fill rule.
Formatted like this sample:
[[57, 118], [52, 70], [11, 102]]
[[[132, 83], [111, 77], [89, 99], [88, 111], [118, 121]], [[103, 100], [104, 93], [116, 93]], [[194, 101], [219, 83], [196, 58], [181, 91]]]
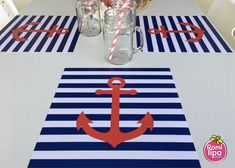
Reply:
[[65, 68], [65, 72], [67, 71], [94, 71], [94, 72], [99, 72], [99, 71], [157, 71], [157, 72], [170, 72], [170, 68]]

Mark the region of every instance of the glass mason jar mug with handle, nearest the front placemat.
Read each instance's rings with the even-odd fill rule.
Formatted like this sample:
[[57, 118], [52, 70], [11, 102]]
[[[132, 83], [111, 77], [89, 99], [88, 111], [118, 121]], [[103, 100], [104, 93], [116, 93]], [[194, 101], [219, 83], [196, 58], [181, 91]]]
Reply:
[[[121, 25], [119, 25], [119, 20]], [[120, 18], [120, 10], [109, 9], [104, 16], [104, 55], [105, 60], [111, 64], [124, 65], [132, 60], [133, 54], [143, 49], [143, 33], [140, 27], [133, 26], [132, 11], [127, 9]], [[118, 31], [119, 29], [119, 31]], [[139, 32], [140, 46], [133, 47], [134, 34]]]

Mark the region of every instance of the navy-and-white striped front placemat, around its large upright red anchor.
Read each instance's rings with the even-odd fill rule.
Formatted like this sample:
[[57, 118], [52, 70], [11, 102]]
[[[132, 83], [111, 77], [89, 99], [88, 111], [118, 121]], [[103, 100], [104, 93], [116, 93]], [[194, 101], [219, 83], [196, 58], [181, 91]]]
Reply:
[[[110, 89], [112, 77], [126, 81], [122, 95], [120, 127], [130, 132], [147, 111], [154, 129], [116, 148], [76, 129], [84, 111], [93, 129], [110, 129], [111, 96], [96, 95]], [[168, 68], [66, 68], [41, 130], [29, 167], [200, 167], [197, 152]]]

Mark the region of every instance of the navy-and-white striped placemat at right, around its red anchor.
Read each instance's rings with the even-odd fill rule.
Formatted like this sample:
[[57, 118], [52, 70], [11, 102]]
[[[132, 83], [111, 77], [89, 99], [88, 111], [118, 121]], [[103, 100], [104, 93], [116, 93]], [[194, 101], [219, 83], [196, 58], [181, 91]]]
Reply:
[[[179, 23], [187, 23], [204, 31], [202, 39], [198, 42], [188, 42], [190, 38], [195, 38], [195, 32], [188, 33], [167, 33], [167, 38], [163, 33], [150, 34], [149, 29], [192, 31], [194, 28], [183, 26]], [[137, 26], [144, 31], [143, 52], [196, 52], [196, 53], [227, 53], [232, 52], [222, 36], [205, 16], [137, 16]], [[137, 43], [140, 39], [137, 35]]]

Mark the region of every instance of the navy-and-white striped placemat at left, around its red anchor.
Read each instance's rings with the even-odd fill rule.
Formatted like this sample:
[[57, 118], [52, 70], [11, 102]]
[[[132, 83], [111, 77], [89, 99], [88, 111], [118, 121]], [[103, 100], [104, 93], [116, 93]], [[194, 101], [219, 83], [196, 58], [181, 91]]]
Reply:
[[[7, 26], [0, 31], [0, 52], [73, 52], [79, 37], [76, 16], [16, 16]], [[56, 25], [57, 29], [69, 29], [65, 34], [54, 33], [48, 37], [48, 32], [24, 32], [19, 31], [20, 38], [26, 41], [17, 41], [13, 37], [13, 30], [19, 29], [25, 24], [26, 30], [51, 30]]]

